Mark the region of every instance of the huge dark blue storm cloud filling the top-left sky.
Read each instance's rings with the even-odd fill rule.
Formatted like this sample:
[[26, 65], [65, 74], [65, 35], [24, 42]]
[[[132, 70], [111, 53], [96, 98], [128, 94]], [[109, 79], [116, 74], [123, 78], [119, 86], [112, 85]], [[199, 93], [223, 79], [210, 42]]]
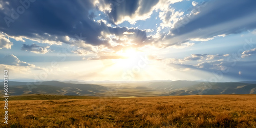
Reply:
[[[89, 12], [95, 10], [95, 7], [92, 1], [89, 0], [35, 2], [27, 0], [25, 4], [27, 9], [19, 1], [3, 1], [3, 3], [7, 2], [9, 4], [2, 5], [4, 11], [0, 12], [0, 17], [6, 17], [0, 19], [0, 31], [10, 36], [26, 36], [69, 44], [71, 42], [66, 40], [65, 36], [78, 39], [77, 35], [81, 33], [83, 38], [79, 39], [93, 46], [108, 45], [108, 40], [98, 38], [102, 31], [114, 32], [121, 36], [124, 31], [132, 31], [135, 32], [136, 37], [134, 38], [136, 41], [146, 39], [144, 31], [119, 27], [111, 28], [103, 22], [94, 22], [92, 18], [95, 17], [95, 14]], [[22, 2], [24, 1], [22, 0]], [[130, 5], [133, 5], [133, 3], [130, 3]], [[20, 7], [24, 8], [24, 11]], [[12, 16], [12, 14], [14, 15]], [[13, 19], [13, 17], [16, 19]]]

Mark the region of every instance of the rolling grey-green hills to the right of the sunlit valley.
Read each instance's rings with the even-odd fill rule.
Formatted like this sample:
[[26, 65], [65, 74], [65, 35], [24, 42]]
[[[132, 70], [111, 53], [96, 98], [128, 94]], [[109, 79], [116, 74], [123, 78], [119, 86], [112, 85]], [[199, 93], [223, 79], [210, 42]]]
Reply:
[[167, 95], [256, 94], [256, 84], [243, 82], [172, 81], [154, 82], [147, 87]]

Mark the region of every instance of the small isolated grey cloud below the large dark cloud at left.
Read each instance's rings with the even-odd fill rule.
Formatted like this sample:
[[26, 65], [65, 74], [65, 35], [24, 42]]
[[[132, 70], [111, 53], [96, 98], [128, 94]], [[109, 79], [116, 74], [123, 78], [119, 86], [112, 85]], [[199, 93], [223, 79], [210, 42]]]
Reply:
[[23, 46], [22, 46], [22, 50], [30, 51], [30, 52], [33, 52], [36, 54], [46, 54], [51, 51], [51, 50], [49, 50], [49, 48], [50, 48], [50, 46], [41, 47], [36, 44], [32, 44], [32, 45], [23, 44]]

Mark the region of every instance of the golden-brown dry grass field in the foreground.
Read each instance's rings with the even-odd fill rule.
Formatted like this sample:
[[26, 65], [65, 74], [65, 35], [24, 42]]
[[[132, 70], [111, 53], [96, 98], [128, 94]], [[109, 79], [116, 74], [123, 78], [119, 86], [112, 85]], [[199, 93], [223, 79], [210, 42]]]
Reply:
[[10, 100], [8, 107], [9, 124], [3, 116], [0, 127], [256, 127], [256, 95]]

